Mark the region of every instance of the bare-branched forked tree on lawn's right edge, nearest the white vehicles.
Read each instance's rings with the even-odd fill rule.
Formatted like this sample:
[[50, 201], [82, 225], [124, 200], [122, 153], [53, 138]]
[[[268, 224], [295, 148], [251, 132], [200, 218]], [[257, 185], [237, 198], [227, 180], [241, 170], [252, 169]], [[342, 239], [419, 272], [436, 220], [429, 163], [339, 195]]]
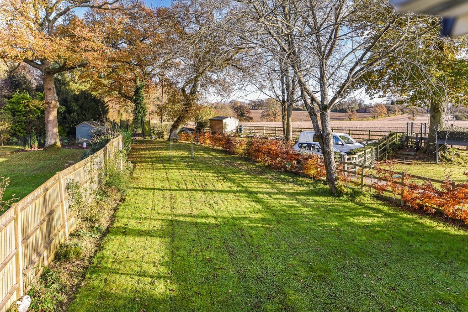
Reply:
[[[237, 0], [287, 55], [322, 147], [332, 194], [340, 193], [330, 112], [354, 83], [436, 25], [395, 14], [387, 1]], [[279, 32], [278, 29], [285, 31]], [[378, 51], [378, 53], [374, 53]]]

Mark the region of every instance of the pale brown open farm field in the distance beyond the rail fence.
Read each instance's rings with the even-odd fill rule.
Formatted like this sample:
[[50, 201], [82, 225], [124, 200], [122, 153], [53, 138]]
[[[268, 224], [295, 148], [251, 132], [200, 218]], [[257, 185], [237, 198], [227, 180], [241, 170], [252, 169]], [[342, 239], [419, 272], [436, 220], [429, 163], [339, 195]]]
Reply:
[[[254, 112], [252, 110], [252, 112]], [[260, 111], [258, 111], [260, 112]], [[296, 114], [294, 114], [296, 113]], [[259, 113], [261, 114], [261, 112]], [[252, 113], [254, 115], [254, 113]], [[343, 116], [340, 116], [343, 115]], [[359, 114], [364, 115], [364, 114]], [[259, 115], [260, 116], [260, 115]], [[358, 129], [358, 130], [374, 130], [374, 131], [397, 131], [406, 132], [406, 123], [412, 122], [409, 120], [408, 115], [391, 116], [385, 118], [379, 118], [375, 120], [355, 120], [349, 121], [344, 119], [344, 113], [331, 113], [331, 125], [336, 129]], [[254, 119], [255, 120], [255, 119]], [[341, 120], [341, 121], [340, 121]], [[428, 116], [418, 116], [414, 121], [416, 128], [415, 131], [419, 131], [419, 124], [428, 123]], [[456, 126], [468, 128], [468, 121], [457, 121], [447, 118], [447, 124], [454, 123]], [[277, 126], [281, 127], [281, 122], [262, 122], [260, 119], [257, 122], [241, 122], [239, 124], [244, 125], [261, 125], [261, 126]], [[429, 123], [428, 123], [429, 124]], [[292, 126], [298, 128], [312, 128], [312, 123], [308, 117], [307, 112], [294, 111], [292, 115]]]

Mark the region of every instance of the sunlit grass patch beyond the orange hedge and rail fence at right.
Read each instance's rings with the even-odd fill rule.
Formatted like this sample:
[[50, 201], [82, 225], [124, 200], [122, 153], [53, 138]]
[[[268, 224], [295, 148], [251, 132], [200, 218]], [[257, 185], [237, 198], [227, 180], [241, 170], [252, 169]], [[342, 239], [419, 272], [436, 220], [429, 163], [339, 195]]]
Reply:
[[409, 174], [415, 174], [432, 179], [445, 180], [449, 175], [453, 181], [464, 182], [468, 171], [468, 150], [453, 149], [452, 160], [442, 160], [439, 165], [435, 161], [417, 161], [412, 164], [399, 164], [390, 162], [384, 164], [384, 168], [389, 168], [397, 172], [406, 171]]

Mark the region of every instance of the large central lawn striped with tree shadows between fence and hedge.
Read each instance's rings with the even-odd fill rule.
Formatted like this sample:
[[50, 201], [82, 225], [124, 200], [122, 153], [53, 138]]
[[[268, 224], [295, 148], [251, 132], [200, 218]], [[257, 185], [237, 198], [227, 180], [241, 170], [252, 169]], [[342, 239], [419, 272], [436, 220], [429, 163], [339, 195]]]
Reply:
[[69, 311], [468, 311], [468, 232], [214, 149], [132, 147]]

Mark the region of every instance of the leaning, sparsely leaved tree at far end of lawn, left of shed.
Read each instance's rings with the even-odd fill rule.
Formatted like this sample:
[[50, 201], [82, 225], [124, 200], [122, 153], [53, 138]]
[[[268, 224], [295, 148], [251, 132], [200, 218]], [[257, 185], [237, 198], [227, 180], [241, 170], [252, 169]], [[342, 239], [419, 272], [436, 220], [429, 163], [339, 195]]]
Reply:
[[234, 36], [238, 17], [232, 12], [202, 0], [179, 0], [169, 9], [175, 39], [168, 47], [165, 77], [180, 90], [183, 102], [169, 139], [190, 119], [204, 92], [229, 91], [242, 72], [242, 52], [248, 49]]

